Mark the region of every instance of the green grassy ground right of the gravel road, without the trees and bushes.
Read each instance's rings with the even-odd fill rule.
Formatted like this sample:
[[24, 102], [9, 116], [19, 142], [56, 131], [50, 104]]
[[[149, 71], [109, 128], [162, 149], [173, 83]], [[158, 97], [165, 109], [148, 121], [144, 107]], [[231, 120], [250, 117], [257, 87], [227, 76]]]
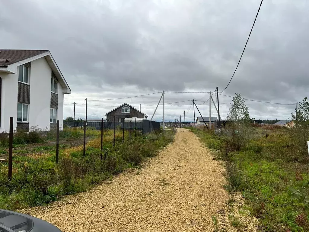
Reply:
[[[309, 231], [308, 158], [300, 158], [289, 128], [251, 128], [240, 151], [226, 152], [227, 135], [194, 129], [224, 160], [228, 191], [241, 191], [262, 231]], [[246, 208], [247, 209], [247, 208]]]

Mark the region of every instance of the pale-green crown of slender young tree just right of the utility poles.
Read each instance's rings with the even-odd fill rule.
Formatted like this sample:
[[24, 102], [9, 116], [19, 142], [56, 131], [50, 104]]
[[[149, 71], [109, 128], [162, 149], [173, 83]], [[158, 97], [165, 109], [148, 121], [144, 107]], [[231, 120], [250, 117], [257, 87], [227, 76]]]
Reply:
[[233, 122], [248, 122], [250, 120], [248, 108], [245, 99], [241, 98], [240, 93], [235, 93], [226, 119]]

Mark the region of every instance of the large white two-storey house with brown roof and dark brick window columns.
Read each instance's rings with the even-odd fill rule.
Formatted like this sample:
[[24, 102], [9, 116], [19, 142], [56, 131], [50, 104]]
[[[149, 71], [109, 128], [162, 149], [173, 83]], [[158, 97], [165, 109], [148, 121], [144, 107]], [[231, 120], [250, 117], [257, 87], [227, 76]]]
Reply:
[[0, 50], [0, 132], [63, 124], [63, 97], [71, 89], [49, 50]]

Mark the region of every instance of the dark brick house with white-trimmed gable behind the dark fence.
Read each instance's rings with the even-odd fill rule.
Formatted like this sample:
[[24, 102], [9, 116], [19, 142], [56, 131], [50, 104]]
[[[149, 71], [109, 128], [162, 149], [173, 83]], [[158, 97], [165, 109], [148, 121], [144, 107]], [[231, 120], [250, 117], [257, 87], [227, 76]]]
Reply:
[[114, 118], [116, 119], [116, 122], [124, 122], [125, 118], [134, 118], [134, 120], [135, 118], [148, 118], [146, 114], [135, 109], [132, 105], [129, 105], [128, 103], [124, 103], [117, 108], [107, 112], [105, 116], [108, 122], [114, 122]]

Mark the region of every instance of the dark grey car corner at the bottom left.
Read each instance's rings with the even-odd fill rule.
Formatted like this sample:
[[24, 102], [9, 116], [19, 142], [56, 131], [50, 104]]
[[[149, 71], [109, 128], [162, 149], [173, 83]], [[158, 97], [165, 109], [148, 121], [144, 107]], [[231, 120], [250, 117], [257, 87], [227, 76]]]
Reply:
[[61, 232], [56, 226], [23, 213], [0, 209], [0, 232]]

